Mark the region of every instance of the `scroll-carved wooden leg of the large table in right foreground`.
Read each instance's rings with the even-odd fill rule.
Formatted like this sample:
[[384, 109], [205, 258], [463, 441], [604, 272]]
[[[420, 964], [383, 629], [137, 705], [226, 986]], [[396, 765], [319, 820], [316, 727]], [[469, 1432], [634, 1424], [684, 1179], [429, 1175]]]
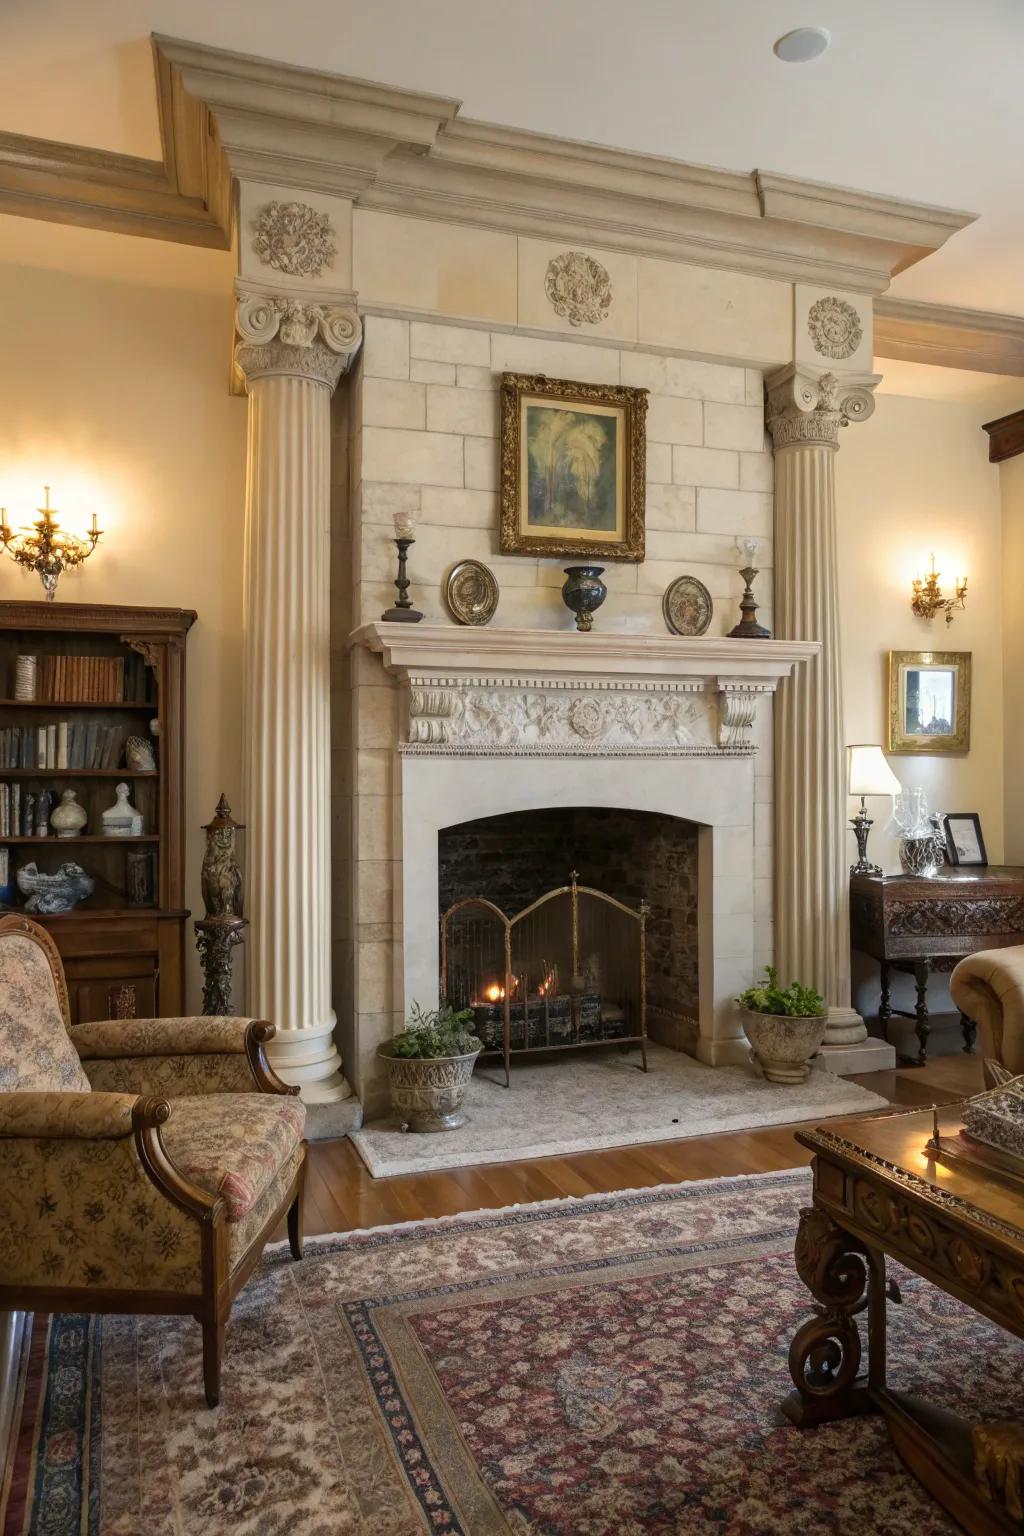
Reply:
[[[869, 1310], [870, 1375], [884, 1381], [884, 1264], [817, 1206], [800, 1212], [797, 1273], [818, 1303], [814, 1318], [789, 1346], [791, 1392], [781, 1409], [791, 1424], [806, 1428], [877, 1413], [869, 1382], [860, 1375], [861, 1342], [855, 1315]], [[870, 1296], [866, 1299], [869, 1275]], [[881, 1318], [881, 1321], [880, 1321]]]

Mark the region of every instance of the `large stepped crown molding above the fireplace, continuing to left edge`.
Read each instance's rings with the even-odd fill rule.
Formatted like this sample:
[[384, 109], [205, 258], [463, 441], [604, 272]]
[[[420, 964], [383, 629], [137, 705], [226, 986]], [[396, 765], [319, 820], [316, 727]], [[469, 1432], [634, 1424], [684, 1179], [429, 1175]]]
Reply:
[[459, 103], [154, 37], [163, 164], [0, 140], [0, 209], [224, 246], [230, 183], [881, 293], [973, 215], [457, 118]]

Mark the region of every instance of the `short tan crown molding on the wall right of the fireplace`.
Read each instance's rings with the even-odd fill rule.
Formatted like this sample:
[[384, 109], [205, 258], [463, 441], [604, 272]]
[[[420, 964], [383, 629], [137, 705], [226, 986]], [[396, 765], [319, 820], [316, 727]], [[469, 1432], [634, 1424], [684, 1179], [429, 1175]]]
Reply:
[[877, 298], [875, 356], [1019, 376], [1024, 375], [1024, 316]]

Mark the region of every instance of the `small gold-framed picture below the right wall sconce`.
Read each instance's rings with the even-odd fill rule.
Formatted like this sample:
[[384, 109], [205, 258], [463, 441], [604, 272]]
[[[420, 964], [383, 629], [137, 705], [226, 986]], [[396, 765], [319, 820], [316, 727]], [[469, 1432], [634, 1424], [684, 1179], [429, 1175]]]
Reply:
[[970, 651], [889, 651], [889, 751], [970, 751]]

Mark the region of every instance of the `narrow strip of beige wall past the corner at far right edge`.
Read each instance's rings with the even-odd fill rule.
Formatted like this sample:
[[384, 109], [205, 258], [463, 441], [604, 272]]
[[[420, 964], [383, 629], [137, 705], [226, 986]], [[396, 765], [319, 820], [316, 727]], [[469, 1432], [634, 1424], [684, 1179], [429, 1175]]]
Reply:
[[1024, 453], [999, 464], [1003, 499], [1003, 771], [1006, 777], [1006, 862], [1024, 865]]

